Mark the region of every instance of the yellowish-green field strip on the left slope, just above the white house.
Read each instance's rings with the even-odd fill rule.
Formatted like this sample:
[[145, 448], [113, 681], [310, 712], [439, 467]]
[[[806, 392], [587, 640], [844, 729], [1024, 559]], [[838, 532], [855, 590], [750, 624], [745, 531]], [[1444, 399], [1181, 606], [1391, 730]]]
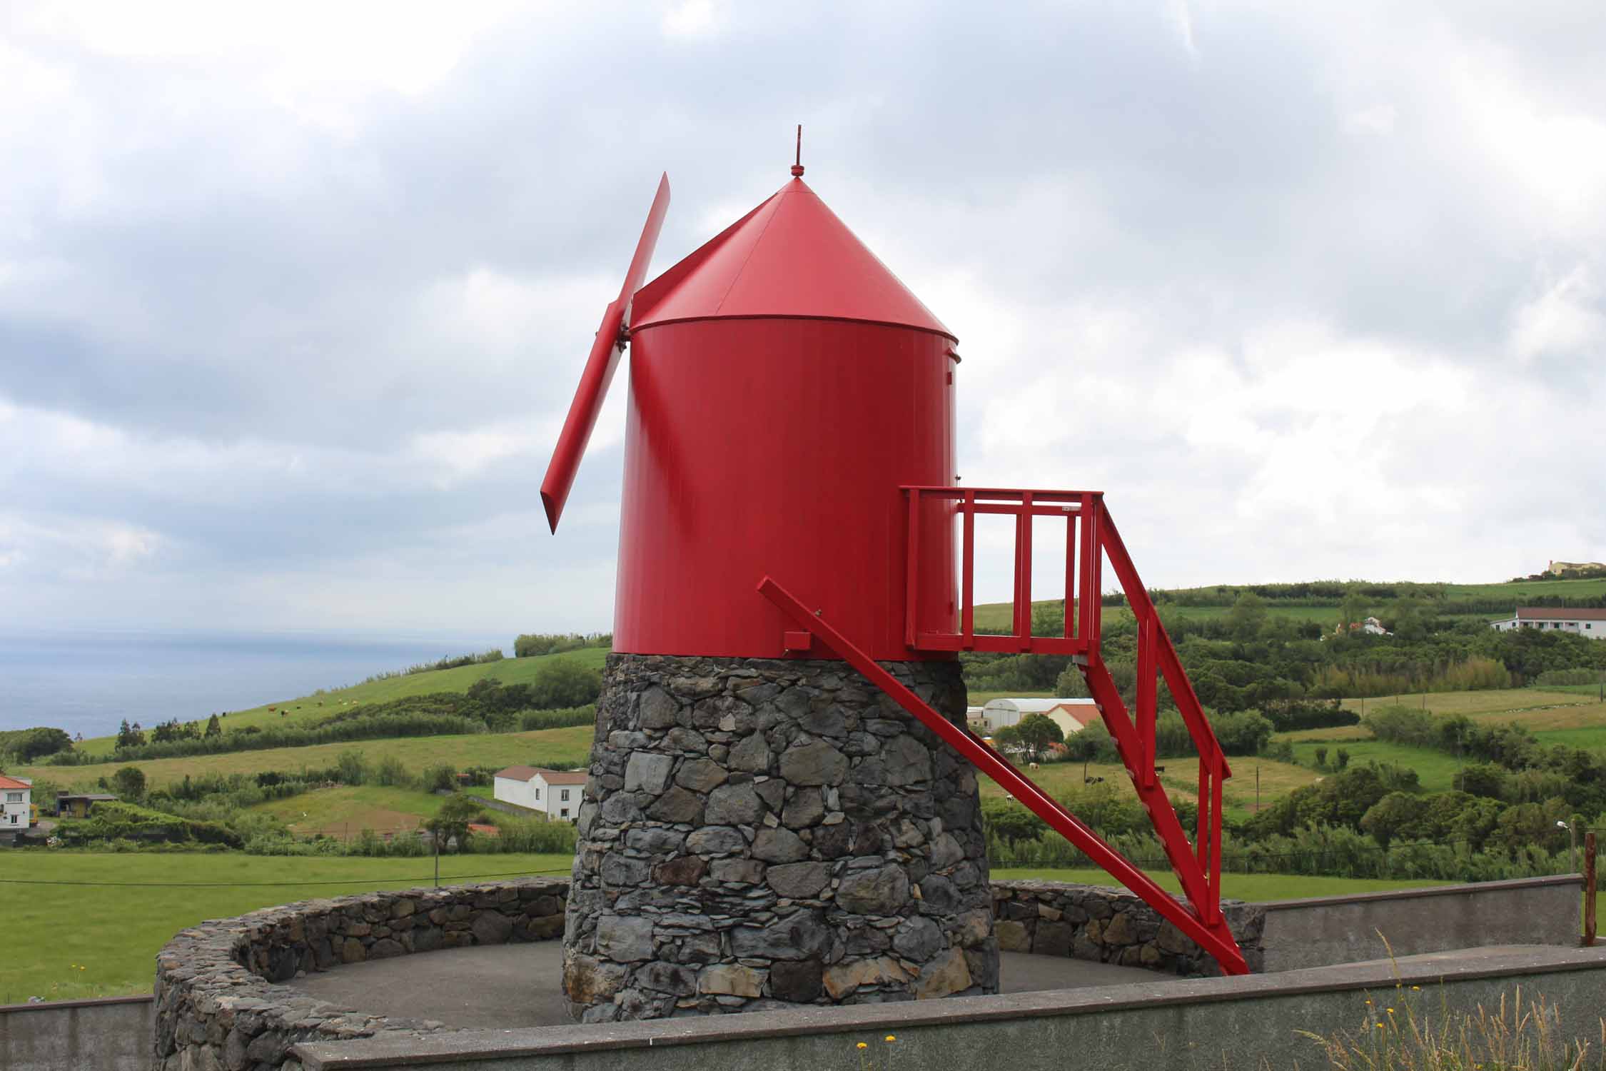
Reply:
[[[393, 756], [410, 771], [421, 771], [437, 763], [464, 766], [556, 766], [569, 769], [585, 766], [591, 756], [593, 731], [586, 726], [567, 729], [536, 729], [535, 732], [474, 732], [443, 737], [403, 737], [395, 740], [353, 740], [349, 743], [315, 743], [305, 748], [267, 748], [262, 751], [231, 751], [226, 755], [193, 755], [186, 758], [157, 758], [132, 763], [145, 771], [146, 782], [154, 788], [185, 774], [198, 777], [207, 772], [257, 774], [265, 769], [296, 772], [300, 769], [328, 769], [340, 751], [358, 750], [369, 766]], [[93, 787], [101, 777], [111, 777], [130, 763], [93, 763], [88, 766], [21, 766], [24, 777], [45, 777], [74, 788]]]

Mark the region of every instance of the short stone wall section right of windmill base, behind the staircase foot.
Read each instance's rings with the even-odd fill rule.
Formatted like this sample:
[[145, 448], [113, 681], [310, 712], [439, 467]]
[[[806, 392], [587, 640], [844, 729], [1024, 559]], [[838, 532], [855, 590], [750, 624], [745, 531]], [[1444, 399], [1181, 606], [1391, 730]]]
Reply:
[[[1266, 959], [1266, 907], [1222, 901], [1227, 928], [1251, 971]], [[999, 949], [1073, 955], [1172, 975], [1219, 975], [1221, 967], [1153, 907], [1126, 890], [1065, 882], [994, 882]]]

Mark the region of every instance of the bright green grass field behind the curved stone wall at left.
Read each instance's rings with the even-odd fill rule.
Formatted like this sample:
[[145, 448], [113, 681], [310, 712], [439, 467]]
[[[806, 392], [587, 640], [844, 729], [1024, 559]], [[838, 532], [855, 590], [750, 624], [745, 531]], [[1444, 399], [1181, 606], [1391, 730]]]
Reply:
[[[443, 856], [442, 883], [567, 875], [569, 856]], [[47, 882], [50, 885], [29, 885]], [[71, 885], [111, 882], [120, 885]], [[220, 883], [212, 888], [172, 883]], [[156, 954], [180, 930], [297, 899], [434, 882], [434, 859], [276, 859], [228, 854], [6, 854], [0, 1004], [151, 991]], [[64, 885], [55, 885], [64, 883]], [[164, 885], [165, 883], [165, 885]], [[82, 970], [79, 970], [82, 967]]]

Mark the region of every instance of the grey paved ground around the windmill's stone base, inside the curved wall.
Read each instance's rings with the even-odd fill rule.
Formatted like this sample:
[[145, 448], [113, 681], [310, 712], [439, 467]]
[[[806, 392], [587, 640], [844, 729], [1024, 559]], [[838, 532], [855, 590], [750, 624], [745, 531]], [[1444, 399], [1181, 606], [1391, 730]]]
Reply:
[[[363, 1012], [440, 1020], [469, 1029], [569, 1023], [557, 989], [562, 941], [498, 944], [350, 963], [289, 983], [321, 1000]], [[1111, 967], [1057, 955], [1004, 952], [1004, 992], [1079, 989], [1155, 981], [1137, 967]]]

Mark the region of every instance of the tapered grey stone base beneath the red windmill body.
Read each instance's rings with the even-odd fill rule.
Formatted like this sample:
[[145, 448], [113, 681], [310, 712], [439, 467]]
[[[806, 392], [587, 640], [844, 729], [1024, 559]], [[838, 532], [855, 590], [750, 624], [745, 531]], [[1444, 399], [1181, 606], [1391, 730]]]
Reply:
[[[959, 663], [887, 668], [964, 724]], [[976, 774], [842, 662], [610, 655], [586, 792], [578, 1020], [997, 992]]]

